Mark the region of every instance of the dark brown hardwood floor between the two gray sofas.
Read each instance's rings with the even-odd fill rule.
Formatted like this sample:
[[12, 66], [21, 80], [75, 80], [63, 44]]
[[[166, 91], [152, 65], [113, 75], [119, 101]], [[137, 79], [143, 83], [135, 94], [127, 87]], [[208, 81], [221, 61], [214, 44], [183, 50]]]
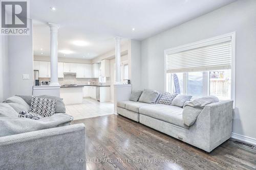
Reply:
[[86, 125], [88, 170], [256, 169], [256, 148], [234, 139], [206, 153], [121, 115], [73, 121], [78, 123]]

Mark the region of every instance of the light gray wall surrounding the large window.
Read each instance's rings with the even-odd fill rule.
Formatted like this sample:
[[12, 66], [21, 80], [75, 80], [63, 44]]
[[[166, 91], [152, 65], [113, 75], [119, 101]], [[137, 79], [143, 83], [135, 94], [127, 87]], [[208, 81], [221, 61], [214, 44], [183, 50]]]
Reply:
[[164, 50], [236, 31], [233, 133], [256, 139], [256, 1], [240, 0], [142, 41], [141, 84], [164, 91]]

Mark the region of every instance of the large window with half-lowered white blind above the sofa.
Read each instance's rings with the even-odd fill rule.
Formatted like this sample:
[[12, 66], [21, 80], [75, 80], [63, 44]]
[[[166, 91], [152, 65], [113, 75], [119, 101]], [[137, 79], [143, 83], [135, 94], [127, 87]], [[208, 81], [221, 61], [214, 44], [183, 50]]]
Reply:
[[166, 91], [234, 99], [234, 33], [165, 50]]

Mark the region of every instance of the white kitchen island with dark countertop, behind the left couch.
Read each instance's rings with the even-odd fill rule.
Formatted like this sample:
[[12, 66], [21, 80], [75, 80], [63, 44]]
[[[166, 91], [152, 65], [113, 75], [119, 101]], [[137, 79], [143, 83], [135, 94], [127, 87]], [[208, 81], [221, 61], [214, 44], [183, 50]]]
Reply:
[[66, 105], [81, 104], [83, 86], [60, 86], [60, 98]]

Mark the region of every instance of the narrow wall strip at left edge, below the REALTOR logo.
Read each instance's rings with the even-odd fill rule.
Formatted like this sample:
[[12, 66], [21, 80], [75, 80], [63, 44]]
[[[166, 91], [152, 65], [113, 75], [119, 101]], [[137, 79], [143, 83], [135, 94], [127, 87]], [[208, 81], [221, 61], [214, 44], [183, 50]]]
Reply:
[[0, 102], [9, 96], [8, 36], [0, 35]]

